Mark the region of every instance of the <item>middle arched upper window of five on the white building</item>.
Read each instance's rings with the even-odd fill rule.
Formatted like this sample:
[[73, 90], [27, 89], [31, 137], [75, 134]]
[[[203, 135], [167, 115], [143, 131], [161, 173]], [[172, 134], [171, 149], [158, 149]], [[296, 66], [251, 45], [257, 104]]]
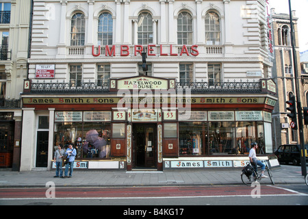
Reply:
[[153, 18], [148, 12], [142, 12], [138, 16], [138, 44], [153, 43]]

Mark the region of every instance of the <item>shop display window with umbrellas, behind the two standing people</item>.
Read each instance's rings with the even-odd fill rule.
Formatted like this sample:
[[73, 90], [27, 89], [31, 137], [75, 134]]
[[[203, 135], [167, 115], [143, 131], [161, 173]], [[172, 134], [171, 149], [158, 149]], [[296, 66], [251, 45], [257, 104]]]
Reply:
[[55, 150], [59, 144], [64, 150], [73, 144], [77, 159], [110, 158], [110, 120], [111, 112], [55, 112]]

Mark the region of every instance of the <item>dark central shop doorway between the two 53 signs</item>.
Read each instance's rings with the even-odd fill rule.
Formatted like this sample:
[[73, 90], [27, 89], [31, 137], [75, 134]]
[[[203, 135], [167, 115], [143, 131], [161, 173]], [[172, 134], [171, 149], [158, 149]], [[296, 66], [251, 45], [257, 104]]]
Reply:
[[133, 168], [157, 168], [156, 124], [133, 124]]

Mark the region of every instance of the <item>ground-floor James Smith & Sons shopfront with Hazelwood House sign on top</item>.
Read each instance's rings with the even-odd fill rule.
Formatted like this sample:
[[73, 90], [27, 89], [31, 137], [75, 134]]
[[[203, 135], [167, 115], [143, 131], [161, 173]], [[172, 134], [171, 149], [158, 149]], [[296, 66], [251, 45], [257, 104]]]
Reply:
[[255, 83], [255, 94], [228, 93], [232, 88], [220, 94], [183, 93], [170, 88], [174, 79], [146, 76], [110, 83], [126, 80], [167, 83], [159, 90], [116, 88], [105, 96], [71, 97], [57, 88], [56, 95], [47, 96], [33, 86], [32, 92], [24, 90], [24, 116], [31, 120], [23, 123], [29, 137], [24, 140], [36, 142], [29, 149], [36, 150], [32, 166], [53, 168], [59, 144], [73, 144], [75, 166], [84, 169], [237, 167], [248, 159], [251, 142], [259, 143], [264, 159], [273, 152], [271, 111], [277, 97], [271, 79]]

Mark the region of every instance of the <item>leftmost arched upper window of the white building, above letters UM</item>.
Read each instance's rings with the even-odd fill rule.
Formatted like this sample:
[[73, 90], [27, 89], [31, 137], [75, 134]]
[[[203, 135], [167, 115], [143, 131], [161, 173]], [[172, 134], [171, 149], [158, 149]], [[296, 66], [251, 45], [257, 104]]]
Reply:
[[70, 25], [70, 45], [83, 46], [86, 32], [86, 20], [84, 14], [76, 13], [72, 17]]

